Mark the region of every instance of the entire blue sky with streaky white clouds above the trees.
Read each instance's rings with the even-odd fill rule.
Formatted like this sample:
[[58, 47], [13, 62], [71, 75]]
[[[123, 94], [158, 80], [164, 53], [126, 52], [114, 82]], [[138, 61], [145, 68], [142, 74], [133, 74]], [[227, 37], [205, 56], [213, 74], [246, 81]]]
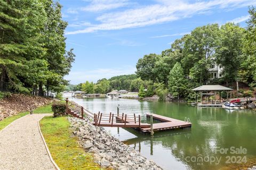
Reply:
[[133, 74], [146, 54], [161, 54], [196, 27], [235, 22], [246, 27], [256, 0], [59, 0], [74, 48], [71, 84]]

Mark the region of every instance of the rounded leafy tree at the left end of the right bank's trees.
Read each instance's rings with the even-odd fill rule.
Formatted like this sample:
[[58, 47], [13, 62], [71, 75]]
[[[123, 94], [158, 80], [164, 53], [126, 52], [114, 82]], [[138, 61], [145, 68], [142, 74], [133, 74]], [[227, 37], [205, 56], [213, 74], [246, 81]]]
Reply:
[[156, 54], [145, 55], [143, 58], [140, 58], [136, 68], [136, 73], [142, 80], [153, 80], [156, 81], [157, 74], [154, 71], [156, 61], [159, 56]]

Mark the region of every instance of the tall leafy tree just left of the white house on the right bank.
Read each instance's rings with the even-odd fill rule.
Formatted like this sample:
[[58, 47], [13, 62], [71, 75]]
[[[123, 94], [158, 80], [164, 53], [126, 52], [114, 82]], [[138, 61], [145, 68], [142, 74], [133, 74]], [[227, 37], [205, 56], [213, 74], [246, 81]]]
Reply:
[[[208, 70], [210, 69], [210, 64], [214, 62], [213, 57], [218, 44], [218, 37], [218, 24], [197, 27], [191, 31], [190, 35], [185, 36], [183, 39], [184, 44], [182, 45], [184, 47], [182, 50], [184, 57], [181, 60], [185, 75], [188, 76], [190, 71], [194, 71], [194, 78], [196, 78], [194, 81], [201, 84], [205, 84], [208, 81]], [[198, 71], [198, 73], [196, 74], [195, 71]]]

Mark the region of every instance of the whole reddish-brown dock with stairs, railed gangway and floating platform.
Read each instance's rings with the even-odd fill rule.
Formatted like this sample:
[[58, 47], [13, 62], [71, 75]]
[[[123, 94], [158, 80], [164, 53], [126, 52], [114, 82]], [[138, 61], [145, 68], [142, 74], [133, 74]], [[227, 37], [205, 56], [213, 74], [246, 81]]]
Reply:
[[[133, 128], [137, 129], [143, 133], [154, 134], [155, 131], [165, 131], [173, 129], [184, 129], [191, 128], [192, 123], [189, 118], [185, 117], [185, 121], [177, 120], [175, 118], [161, 116], [157, 114], [146, 114], [147, 117], [150, 117], [150, 124], [141, 123], [140, 115], [135, 114], [122, 114], [119, 113], [113, 114], [93, 114], [82, 106], [68, 104], [68, 99], [66, 100], [66, 112], [69, 115], [84, 119], [84, 115], [91, 118], [92, 124], [95, 126], [102, 127], [117, 127], [117, 128]], [[153, 120], [159, 121], [159, 123], [153, 123]]]

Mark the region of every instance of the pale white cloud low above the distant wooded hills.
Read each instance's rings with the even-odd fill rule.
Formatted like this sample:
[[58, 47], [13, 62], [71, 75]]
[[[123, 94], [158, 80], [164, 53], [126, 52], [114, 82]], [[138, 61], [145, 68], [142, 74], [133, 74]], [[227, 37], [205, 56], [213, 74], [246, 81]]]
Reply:
[[65, 79], [70, 80], [71, 84], [78, 84], [85, 81], [97, 82], [99, 79], [111, 78], [117, 75], [124, 74], [134, 74], [136, 71], [135, 67], [132, 66], [123, 66], [122, 68], [113, 68], [113, 69], [96, 69], [91, 71], [71, 71], [66, 75]]

